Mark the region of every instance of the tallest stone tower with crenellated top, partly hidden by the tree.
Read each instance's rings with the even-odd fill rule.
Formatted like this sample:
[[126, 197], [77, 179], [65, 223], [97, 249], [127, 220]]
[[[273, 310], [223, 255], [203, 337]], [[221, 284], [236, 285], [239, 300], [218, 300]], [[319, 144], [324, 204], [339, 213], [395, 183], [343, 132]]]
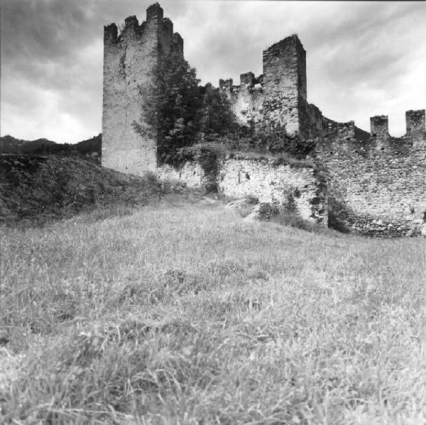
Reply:
[[104, 167], [135, 175], [156, 171], [155, 129], [142, 136], [134, 123], [148, 126], [142, 116], [143, 87], [153, 83], [160, 61], [169, 53], [183, 57], [183, 40], [173, 33], [173, 23], [163, 18], [158, 3], [148, 7], [141, 25], [136, 16], [126, 18], [120, 35], [115, 23], [104, 27]]

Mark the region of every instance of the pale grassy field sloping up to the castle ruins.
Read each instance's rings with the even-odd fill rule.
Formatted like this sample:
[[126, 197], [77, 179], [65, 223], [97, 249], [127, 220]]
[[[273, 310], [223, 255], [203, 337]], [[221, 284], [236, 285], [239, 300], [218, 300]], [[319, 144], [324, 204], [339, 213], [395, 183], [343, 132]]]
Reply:
[[173, 195], [1, 228], [3, 424], [426, 424], [426, 241]]

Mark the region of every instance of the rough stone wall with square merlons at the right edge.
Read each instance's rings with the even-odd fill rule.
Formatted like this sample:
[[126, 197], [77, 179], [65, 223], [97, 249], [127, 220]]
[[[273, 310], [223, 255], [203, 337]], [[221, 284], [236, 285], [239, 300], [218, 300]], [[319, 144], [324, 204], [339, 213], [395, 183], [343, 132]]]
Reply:
[[388, 120], [379, 118], [372, 121], [376, 136], [370, 140], [317, 142], [317, 160], [327, 171], [330, 221], [366, 236], [426, 233], [425, 126], [414, 134], [408, 126], [403, 138], [383, 138]]

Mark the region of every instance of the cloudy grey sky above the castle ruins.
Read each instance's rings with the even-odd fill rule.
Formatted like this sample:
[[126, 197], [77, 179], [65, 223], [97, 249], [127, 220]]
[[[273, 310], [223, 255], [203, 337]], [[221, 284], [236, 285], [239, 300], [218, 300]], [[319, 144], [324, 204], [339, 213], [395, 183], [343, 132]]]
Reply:
[[[102, 130], [103, 26], [146, 0], [1, 0], [1, 136], [76, 143]], [[262, 72], [262, 50], [297, 33], [307, 96], [336, 121], [426, 108], [426, 2], [162, 0], [202, 83]]]

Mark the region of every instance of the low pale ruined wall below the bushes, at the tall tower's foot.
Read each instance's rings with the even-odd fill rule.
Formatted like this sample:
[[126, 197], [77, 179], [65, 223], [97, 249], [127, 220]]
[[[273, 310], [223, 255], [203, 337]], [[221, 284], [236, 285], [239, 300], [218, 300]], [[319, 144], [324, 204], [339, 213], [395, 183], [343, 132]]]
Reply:
[[[212, 180], [195, 161], [186, 162], [180, 170], [158, 167], [158, 176], [196, 188]], [[213, 179], [226, 196], [257, 197], [259, 202], [285, 206], [302, 219], [327, 226], [327, 182], [312, 165], [296, 167], [277, 160], [226, 158], [219, 161]]]

